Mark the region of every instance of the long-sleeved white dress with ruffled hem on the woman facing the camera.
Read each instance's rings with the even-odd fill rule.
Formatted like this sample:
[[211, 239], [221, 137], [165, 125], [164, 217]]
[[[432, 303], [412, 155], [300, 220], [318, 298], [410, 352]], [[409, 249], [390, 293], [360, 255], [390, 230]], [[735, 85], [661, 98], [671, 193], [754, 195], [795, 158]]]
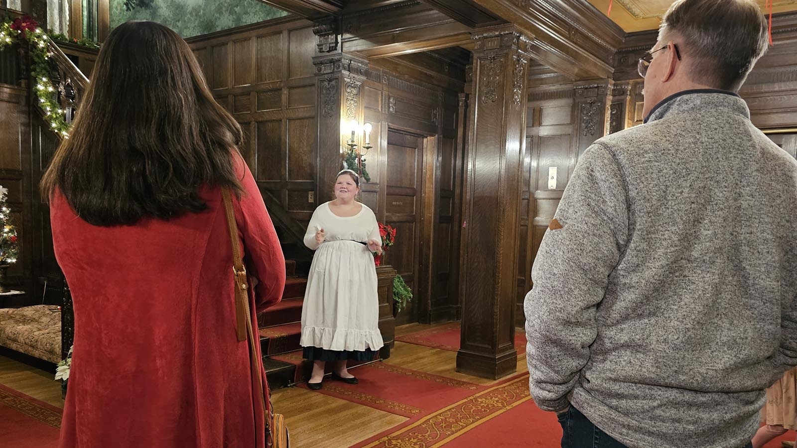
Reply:
[[[383, 346], [374, 257], [362, 244], [381, 237], [374, 212], [362, 206], [358, 214], [340, 217], [326, 202], [312, 214], [304, 235], [304, 245], [316, 250], [301, 313], [305, 348], [360, 352]], [[325, 233], [320, 245], [319, 229]]]

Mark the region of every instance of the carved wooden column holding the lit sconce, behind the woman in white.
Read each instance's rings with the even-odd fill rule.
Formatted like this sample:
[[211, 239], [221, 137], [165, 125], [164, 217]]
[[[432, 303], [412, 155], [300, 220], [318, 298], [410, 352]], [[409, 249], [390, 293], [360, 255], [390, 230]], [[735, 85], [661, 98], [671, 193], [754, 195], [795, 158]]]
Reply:
[[360, 88], [368, 68], [367, 61], [349, 57], [340, 46], [340, 18], [316, 21], [316, 117], [318, 124], [317, 203], [332, 198], [335, 175], [342, 169], [345, 138], [341, 125], [362, 121]]

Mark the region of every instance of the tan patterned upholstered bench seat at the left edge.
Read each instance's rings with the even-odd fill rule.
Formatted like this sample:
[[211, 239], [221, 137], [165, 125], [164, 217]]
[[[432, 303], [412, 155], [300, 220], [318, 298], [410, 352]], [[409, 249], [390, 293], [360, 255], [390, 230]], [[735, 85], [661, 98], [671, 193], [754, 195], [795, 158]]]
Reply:
[[57, 364], [61, 361], [61, 311], [57, 305], [0, 308], [0, 347]]

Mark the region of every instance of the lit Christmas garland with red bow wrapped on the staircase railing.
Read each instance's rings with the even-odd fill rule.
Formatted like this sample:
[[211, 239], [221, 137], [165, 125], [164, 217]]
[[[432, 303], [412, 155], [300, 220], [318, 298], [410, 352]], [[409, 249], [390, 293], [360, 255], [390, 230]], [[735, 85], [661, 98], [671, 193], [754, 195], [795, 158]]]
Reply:
[[39, 107], [44, 111], [45, 121], [49, 123], [53, 132], [68, 138], [69, 124], [65, 120], [65, 111], [61, 109], [61, 104], [58, 104], [56, 88], [49, 80], [49, 58], [53, 56], [53, 53], [49, 52], [47, 33], [28, 16], [0, 23], [0, 50], [6, 49], [15, 40], [22, 39], [30, 44], [30, 72], [35, 82], [33, 92], [36, 92]]

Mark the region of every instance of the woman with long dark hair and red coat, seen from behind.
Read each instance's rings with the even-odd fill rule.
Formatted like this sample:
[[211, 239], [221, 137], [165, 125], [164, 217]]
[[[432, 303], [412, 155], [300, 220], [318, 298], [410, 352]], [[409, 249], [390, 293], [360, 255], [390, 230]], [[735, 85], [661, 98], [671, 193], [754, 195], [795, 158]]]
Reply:
[[75, 311], [62, 447], [265, 445], [222, 189], [253, 285], [241, 322], [280, 300], [285, 259], [240, 143], [182, 38], [110, 33], [41, 182]]

